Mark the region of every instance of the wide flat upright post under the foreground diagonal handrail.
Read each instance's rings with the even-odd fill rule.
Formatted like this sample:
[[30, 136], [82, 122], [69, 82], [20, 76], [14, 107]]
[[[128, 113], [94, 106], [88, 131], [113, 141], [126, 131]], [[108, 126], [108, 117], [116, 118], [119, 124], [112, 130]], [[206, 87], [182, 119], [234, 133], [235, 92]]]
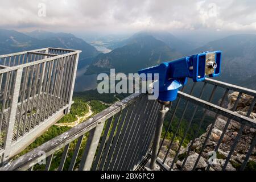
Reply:
[[89, 138], [84, 149], [84, 154], [82, 155], [80, 162], [79, 170], [89, 171], [92, 167], [94, 155], [96, 154], [98, 143], [101, 138], [101, 133], [104, 128], [104, 123], [105, 122], [100, 123], [92, 131], [90, 131]]

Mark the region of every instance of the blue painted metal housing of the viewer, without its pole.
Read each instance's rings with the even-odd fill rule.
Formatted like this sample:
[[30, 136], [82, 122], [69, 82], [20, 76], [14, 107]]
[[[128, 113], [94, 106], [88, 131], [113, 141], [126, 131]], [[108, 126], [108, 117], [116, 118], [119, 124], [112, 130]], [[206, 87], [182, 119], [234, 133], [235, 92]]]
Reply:
[[[207, 61], [209, 55], [214, 55], [214, 64], [212, 72], [207, 74]], [[174, 101], [177, 97], [178, 89], [187, 83], [188, 78], [193, 78], [193, 81], [203, 81], [205, 76], [216, 77], [221, 71], [221, 51], [202, 52], [196, 55], [183, 57], [181, 59], [168, 61], [155, 67], [150, 67], [138, 71], [139, 74], [152, 74], [152, 80], [155, 80], [154, 73], [159, 74], [159, 97], [161, 101]], [[155, 89], [155, 88], [154, 88]]]

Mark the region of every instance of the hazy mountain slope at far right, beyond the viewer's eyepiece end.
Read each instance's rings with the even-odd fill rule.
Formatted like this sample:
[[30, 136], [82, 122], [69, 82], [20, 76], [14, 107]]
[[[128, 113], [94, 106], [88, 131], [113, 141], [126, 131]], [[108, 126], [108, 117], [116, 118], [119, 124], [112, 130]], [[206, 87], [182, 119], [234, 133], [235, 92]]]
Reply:
[[228, 36], [209, 42], [190, 54], [217, 50], [223, 52], [221, 76], [217, 79], [245, 86], [243, 82], [256, 73], [256, 35]]

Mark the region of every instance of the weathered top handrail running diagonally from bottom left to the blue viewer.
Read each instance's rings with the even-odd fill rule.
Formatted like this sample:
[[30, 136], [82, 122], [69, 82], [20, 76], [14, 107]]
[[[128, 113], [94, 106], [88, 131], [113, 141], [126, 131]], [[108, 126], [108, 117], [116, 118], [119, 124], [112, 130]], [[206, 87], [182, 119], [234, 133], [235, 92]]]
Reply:
[[[142, 94], [132, 94], [125, 99], [115, 102], [112, 106], [108, 107], [101, 113], [94, 115], [92, 118], [87, 119], [86, 121], [80, 123], [79, 125], [72, 127], [72, 129], [66, 131], [65, 133], [49, 140], [48, 142], [42, 144], [41, 146], [35, 148], [34, 150], [20, 156], [18, 159], [15, 159], [5, 166], [0, 168], [0, 171], [5, 170], [16, 170], [16, 169], [28, 169], [31, 166], [34, 166], [38, 163], [42, 157], [49, 156], [55, 151], [64, 147], [66, 144], [72, 142], [76, 138], [79, 138], [81, 135], [92, 130], [101, 122], [105, 122], [106, 119], [112, 117], [114, 114], [118, 113], [126, 106], [132, 104], [139, 97], [142, 97]], [[46, 152], [46, 156], [42, 156], [42, 151]]]

